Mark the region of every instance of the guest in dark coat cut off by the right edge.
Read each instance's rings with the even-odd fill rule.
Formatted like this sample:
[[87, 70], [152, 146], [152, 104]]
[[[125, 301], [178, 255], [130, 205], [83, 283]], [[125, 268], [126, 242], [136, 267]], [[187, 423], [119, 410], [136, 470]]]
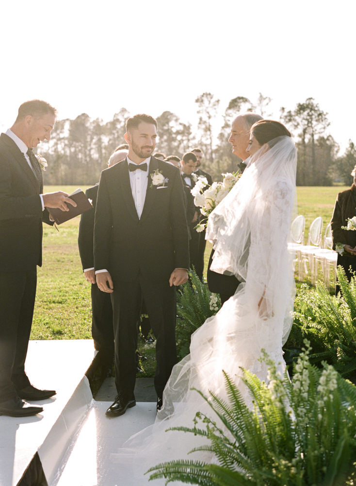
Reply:
[[[339, 192], [336, 197], [333, 216], [331, 218], [331, 234], [333, 239], [333, 249], [336, 244], [344, 245], [344, 253], [338, 255], [338, 265], [341, 265], [346, 277], [350, 281], [353, 276], [352, 271], [356, 271], [356, 231], [341, 229], [341, 226], [347, 226], [347, 218], [353, 218], [356, 214], [356, 166], [351, 175], [354, 176], [354, 183], [350, 189]], [[340, 292], [339, 285], [336, 285], [336, 295]]]

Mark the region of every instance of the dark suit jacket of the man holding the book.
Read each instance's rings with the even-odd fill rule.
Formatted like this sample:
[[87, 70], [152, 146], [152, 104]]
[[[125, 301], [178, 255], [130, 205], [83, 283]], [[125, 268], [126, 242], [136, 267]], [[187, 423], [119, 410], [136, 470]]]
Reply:
[[0, 270], [24, 271], [42, 265], [41, 188], [14, 140], [0, 135]]

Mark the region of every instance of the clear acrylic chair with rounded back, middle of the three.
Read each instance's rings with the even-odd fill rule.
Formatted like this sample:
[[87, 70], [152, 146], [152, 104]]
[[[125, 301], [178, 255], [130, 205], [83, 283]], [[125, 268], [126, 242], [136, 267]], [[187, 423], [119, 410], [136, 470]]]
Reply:
[[298, 248], [298, 278], [303, 280], [303, 270], [306, 274], [310, 272], [310, 281], [314, 283], [314, 253], [321, 249], [322, 244], [323, 218], [318, 216], [309, 226], [306, 245]]

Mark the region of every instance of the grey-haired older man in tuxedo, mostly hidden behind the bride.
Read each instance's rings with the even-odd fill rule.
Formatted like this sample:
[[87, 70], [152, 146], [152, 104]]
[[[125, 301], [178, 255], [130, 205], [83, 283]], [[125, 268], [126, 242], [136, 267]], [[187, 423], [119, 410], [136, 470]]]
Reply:
[[[232, 145], [232, 153], [242, 160], [242, 163], [240, 164], [241, 172], [243, 172], [246, 167], [243, 162], [248, 158], [246, 148], [250, 140], [250, 128], [259, 120], [262, 120], [260, 115], [248, 112], [239, 115], [231, 123], [231, 135], [228, 141]], [[208, 264], [208, 287], [210, 292], [220, 294], [221, 305], [223, 305], [224, 302], [235, 294], [240, 282], [234, 275], [222, 275], [210, 270], [213, 255], [214, 250], [211, 251]]]

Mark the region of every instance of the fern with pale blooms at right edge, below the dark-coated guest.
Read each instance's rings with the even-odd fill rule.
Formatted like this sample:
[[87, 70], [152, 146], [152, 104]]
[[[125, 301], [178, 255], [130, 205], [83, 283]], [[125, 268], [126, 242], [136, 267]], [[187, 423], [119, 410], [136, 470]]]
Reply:
[[[341, 294], [331, 296], [324, 283], [312, 292], [302, 292], [295, 302], [294, 324], [312, 337], [310, 359], [327, 359], [343, 376], [356, 370], [356, 278], [350, 282], [338, 268]], [[324, 348], [324, 349], [323, 349]]]

